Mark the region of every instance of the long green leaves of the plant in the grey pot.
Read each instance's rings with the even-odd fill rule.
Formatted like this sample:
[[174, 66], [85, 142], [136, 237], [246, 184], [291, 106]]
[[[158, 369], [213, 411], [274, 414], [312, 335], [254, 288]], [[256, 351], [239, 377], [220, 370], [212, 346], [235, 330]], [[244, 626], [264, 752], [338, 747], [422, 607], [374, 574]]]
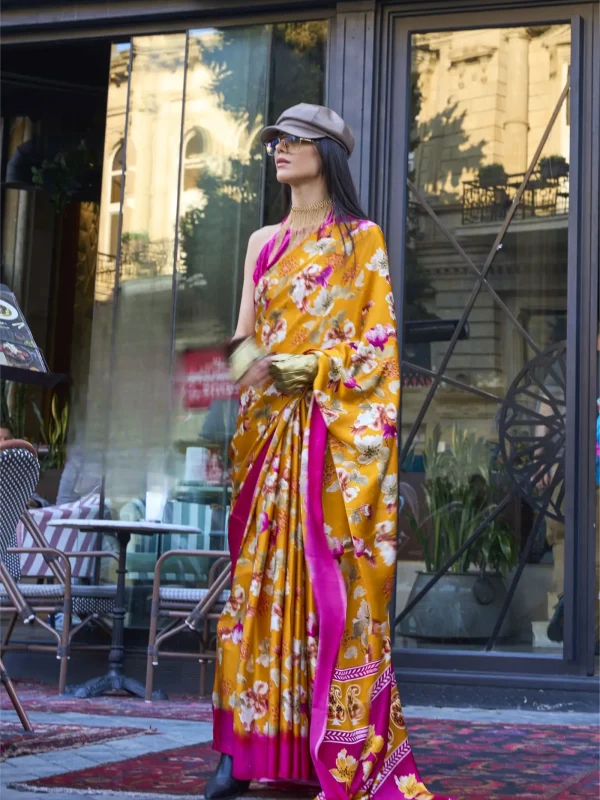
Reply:
[[[449, 446], [441, 450], [440, 442], [438, 424], [427, 441], [423, 459], [426, 475], [423, 491], [429, 516], [419, 521], [409, 513], [427, 572], [437, 572], [496, 507], [497, 476], [487, 442], [457, 425], [452, 428]], [[517, 557], [513, 532], [496, 519], [455, 562], [452, 571], [467, 572], [474, 566], [482, 573], [505, 575], [516, 564]]]

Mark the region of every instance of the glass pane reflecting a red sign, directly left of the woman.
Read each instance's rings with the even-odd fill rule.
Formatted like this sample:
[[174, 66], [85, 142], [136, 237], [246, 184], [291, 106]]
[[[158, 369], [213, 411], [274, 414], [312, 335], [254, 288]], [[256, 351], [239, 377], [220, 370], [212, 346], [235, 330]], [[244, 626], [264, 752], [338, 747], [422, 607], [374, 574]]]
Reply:
[[[237, 391], [223, 345], [236, 322], [246, 244], [261, 224], [270, 36], [263, 26], [189, 32], [170, 430], [182, 470], [171, 505], [175, 521], [202, 530], [192, 546], [204, 548], [226, 548]], [[182, 565], [188, 579], [206, 577], [208, 564]]]

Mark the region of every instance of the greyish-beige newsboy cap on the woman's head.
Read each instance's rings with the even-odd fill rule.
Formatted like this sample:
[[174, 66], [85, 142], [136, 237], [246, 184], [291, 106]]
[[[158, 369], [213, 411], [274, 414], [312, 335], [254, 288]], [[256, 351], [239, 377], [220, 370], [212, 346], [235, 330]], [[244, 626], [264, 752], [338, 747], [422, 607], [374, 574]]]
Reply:
[[341, 144], [348, 155], [354, 150], [354, 135], [344, 120], [335, 111], [325, 106], [298, 103], [284, 111], [275, 125], [264, 128], [260, 135], [263, 144], [274, 139], [278, 133], [290, 133], [306, 139], [333, 139]]

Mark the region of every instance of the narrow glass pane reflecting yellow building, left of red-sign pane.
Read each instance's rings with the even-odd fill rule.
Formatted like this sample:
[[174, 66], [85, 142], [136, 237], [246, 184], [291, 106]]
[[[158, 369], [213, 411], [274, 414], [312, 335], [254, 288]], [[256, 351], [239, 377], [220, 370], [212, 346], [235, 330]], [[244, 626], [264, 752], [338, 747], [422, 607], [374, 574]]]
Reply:
[[[177, 186], [179, 174], [185, 35], [134, 38], [131, 46], [106, 470], [113, 513], [125, 507], [130, 513], [132, 504], [143, 506], [147, 492], [167, 490], [162, 460], [177, 207], [176, 192], [166, 190]], [[129, 180], [130, 146], [135, 182]]]

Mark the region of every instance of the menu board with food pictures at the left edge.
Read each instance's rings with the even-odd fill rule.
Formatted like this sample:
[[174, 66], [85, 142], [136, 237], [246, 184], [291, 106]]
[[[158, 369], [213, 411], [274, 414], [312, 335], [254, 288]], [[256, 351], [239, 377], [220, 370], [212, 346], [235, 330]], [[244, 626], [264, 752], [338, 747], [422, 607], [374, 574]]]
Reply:
[[2, 367], [48, 372], [16, 297], [8, 286], [0, 283], [0, 370]]

